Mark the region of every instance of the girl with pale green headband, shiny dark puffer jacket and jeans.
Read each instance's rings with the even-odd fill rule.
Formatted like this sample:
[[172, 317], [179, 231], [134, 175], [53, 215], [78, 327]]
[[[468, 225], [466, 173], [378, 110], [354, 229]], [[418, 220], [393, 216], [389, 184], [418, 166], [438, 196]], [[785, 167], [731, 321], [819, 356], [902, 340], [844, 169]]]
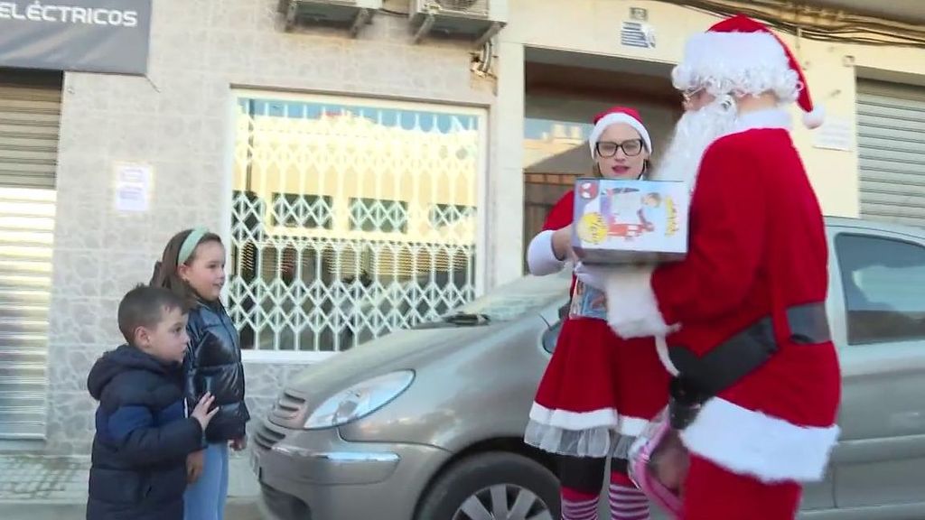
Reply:
[[218, 413], [205, 430], [207, 447], [193, 453], [184, 496], [185, 520], [222, 520], [228, 496], [228, 447], [246, 447], [251, 418], [244, 403], [244, 366], [238, 333], [219, 301], [225, 285], [225, 246], [206, 229], [180, 231], [167, 242], [151, 285], [179, 294], [189, 305], [189, 350], [183, 365], [187, 402], [211, 392]]

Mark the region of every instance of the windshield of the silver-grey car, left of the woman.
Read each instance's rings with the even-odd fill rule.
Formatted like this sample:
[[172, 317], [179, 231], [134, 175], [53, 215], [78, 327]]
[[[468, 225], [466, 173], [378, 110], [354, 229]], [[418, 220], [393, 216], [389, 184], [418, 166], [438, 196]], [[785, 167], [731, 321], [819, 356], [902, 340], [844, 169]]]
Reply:
[[511, 321], [568, 295], [571, 273], [548, 277], [526, 276], [488, 291], [448, 316], [481, 316], [491, 322]]

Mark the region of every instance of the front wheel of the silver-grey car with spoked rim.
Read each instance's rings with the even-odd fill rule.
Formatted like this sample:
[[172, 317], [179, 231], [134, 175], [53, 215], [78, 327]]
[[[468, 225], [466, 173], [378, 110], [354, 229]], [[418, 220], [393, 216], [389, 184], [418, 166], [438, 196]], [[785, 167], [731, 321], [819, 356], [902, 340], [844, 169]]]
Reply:
[[490, 452], [450, 466], [425, 495], [417, 520], [554, 520], [559, 480], [523, 455]]

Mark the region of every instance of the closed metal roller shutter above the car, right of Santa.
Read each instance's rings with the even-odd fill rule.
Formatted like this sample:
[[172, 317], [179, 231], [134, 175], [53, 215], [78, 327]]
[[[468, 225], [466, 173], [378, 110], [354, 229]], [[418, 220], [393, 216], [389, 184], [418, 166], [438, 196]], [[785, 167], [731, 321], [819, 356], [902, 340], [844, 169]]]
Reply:
[[857, 82], [861, 217], [925, 227], [925, 88]]

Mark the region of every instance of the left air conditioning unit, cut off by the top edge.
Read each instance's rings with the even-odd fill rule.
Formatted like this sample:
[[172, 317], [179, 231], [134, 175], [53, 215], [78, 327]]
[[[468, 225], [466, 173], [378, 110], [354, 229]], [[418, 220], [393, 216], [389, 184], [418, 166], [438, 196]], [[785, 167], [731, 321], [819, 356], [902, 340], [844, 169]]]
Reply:
[[286, 31], [302, 24], [347, 27], [356, 36], [382, 8], [382, 0], [279, 0]]

